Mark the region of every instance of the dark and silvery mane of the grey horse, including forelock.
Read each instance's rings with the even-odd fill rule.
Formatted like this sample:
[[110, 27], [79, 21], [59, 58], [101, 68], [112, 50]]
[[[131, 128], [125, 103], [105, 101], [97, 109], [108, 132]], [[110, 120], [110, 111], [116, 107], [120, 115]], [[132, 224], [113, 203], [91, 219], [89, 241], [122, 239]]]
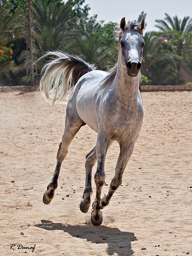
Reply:
[[[120, 27], [115, 28], [115, 31], [114, 31], [114, 32], [116, 32], [115, 39], [118, 40], [119, 45], [120, 45], [120, 41], [121, 41], [121, 38], [122, 38], [124, 32], [127, 31], [127, 30], [137, 31], [137, 32], [140, 33], [141, 36], [143, 36], [143, 31], [140, 28], [137, 27], [138, 25], [139, 25], [139, 23], [136, 20], [133, 20], [133, 21], [128, 20], [128, 22], [126, 24], [126, 28], [124, 30], [122, 30]], [[116, 73], [117, 73], [117, 63], [115, 64], [114, 67], [108, 68], [107, 71], [108, 71], [108, 76], [107, 76], [107, 78], [103, 79], [104, 83], [100, 87], [100, 90], [107, 87], [115, 79], [115, 76], [116, 76]]]

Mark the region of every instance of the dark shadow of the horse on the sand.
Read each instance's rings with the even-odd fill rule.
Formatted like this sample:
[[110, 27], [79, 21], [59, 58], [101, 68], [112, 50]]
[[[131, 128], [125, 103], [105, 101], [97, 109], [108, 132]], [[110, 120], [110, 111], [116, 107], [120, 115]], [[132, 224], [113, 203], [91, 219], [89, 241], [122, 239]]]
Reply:
[[108, 228], [104, 225], [99, 227], [94, 227], [87, 223], [64, 225], [62, 223], [54, 223], [50, 220], [41, 220], [41, 223], [34, 226], [46, 230], [63, 230], [63, 232], [67, 232], [73, 237], [87, 239], [87, 241], [95, 244], [108, 244], [106, 251], [108, 255], [113, 255], [114, 253], [121, 256], [132, 255], [134, 252], [131, 249], [131, 242], [137, 241], [137, 238], [132, 232], [121, 231], [118, 228]]

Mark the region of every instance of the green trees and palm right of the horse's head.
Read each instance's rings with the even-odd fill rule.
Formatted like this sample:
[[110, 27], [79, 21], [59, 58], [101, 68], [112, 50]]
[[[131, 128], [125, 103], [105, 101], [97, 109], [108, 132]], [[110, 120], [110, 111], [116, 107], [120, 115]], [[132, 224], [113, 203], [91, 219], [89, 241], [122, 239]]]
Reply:
[[147, 32], [144, 35], [142, 73], [153, 84], [182, 84], [182, 67], [187, 63], [192, 69], [192, 19], [177, 15], [171, 17], [165, 13], [164, 20], [156, 20], [159, 32]]

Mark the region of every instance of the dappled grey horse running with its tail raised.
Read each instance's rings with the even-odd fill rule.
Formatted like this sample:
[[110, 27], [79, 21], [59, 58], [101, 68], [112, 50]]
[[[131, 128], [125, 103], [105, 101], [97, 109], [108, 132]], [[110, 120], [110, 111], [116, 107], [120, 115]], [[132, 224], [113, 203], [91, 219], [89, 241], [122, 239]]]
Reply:
[[[40, 91], [51, 105], [61, 103], [71, 91], [66, 108], [65, 130], [57, 153], [56, 168], [43, 196], [49, 204], [58, 186], [60, 167], [68, 153], [68, 146], [83, 125], [98, 133], [96, 146], [85, 157], [86, 180], [81, 212], [88, 212], [92, 196], [92, 168], [97, 161], [94, 175], [96, 197], [92, 204], [91, 222], [102, 223], [100, 211], [109, 204], [111, 197], [122, 183], [124, 169], [132, 155], [143, 122], [143, 106], [140, 94], [141, 61], [143, 56], [143, 29], [141, 22], [121, 19], [117, 30], [119, 42], [118, 60], [108, 71], [96, 70], [77, 56], [66, 52], [46, 52], [52, 57], [42, 68]], [[113, 141], [120, 146], [115, 175], [108, 194], [102, 199], [101, 189], [105, 182], [105, 157]]]

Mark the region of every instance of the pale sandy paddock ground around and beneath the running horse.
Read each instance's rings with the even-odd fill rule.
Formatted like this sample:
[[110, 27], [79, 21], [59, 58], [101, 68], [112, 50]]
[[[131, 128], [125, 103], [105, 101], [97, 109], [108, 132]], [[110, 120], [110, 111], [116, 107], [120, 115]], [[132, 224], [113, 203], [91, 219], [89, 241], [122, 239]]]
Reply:
[[[79, 203], [85, 155], [97, 134], [87, 125], [77, 133], [54, 199], [45, 205], [66, 105], [51, 107], [36, 92], [0, 94], [0, 255], [192, 255], [192, 92], [143, 92], [142, 98], [144, 122], [123, 183], [94, 227], [91, 207], [85, 214]], [[114, 142], [102, 196], [118, 154]]]

